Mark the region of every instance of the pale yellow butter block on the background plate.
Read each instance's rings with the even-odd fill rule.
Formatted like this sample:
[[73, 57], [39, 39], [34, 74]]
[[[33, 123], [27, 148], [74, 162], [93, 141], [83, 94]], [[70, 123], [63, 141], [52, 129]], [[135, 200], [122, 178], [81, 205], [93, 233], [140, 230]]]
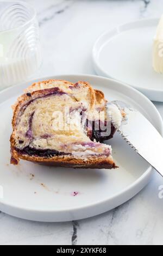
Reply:
[[163, 15], [153, 42], [153, 68], [159, 74], [163, 74]]

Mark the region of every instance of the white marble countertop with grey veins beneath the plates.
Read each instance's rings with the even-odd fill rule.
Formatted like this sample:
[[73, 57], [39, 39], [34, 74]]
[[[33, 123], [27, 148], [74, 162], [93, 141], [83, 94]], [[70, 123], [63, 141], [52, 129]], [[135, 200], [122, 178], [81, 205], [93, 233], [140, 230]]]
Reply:
[[[120, 23], [158, 17], [162, 0], [26, 0], [37, 9], [41, 76], [95, 74], [91, 50], [99, 34]], [[163, 103], [155, 103], [163, 117]], [[67, 223], [20, 220], [1, 212], [1, 245], [162, 245], [162, 178], [154, 173], [136, 197], [97, 217]]]

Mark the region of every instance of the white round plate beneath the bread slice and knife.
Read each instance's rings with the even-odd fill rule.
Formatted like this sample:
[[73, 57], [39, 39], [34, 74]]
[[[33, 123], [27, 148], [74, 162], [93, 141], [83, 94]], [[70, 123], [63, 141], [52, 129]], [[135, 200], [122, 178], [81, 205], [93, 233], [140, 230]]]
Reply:
[[[122, 100], [137, 108], [162, 134], [162, 120], [158, 111], [137, 90], [98, 76], [61, 75], [51, 78], [90, 82], [94, 88], [105, 93], [106, 99]], [[48, 79], [43, 77], [39, 80]], [[21, 161], [18, 166], [10, 165], [11, 105], [23, 89], [33, 82], [0, 93], [1, 211], [33, 221], [79, 220], [123, 204], [147, 185], [152, 168], [119, 135], [109, 141], [114, 159], [120, 167], [116, 170], [54, 168], [26, 161]]]

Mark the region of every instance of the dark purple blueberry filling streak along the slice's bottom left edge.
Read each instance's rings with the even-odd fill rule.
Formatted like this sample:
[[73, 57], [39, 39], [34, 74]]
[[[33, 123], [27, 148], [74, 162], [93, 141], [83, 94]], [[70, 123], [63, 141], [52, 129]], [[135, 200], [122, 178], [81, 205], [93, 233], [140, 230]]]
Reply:
[[40, 156], [40, 157], [53, 157], [53, 156], [64, 156], [64, 155], [70, 155], [65, 154], [63, 152], [59, 152], [57, 150], [51, 150], [51, 149], [34, 149], [30, 147], [26, 147], [22, 150], [17, 149], [21, 154], [27, 154], [29, 156]]

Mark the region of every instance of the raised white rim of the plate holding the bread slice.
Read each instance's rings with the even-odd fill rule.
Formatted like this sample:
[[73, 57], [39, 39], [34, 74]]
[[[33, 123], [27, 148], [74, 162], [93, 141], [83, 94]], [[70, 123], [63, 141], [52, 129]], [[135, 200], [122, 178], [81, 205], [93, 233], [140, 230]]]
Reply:
[[[153, 103], [145, 95], [143, 95], [142, 93], [140, 93], [136, 89], [131, 88], [130, 86], [128, 86], [126, 84], [117, 82], [115, 80], [112, 80], [112, 79], [109, 79], [109, 78], [106, 78], [106, 77], [100, 77], [100, 76], [95, 76], [95, 75], [84, 75], [84, 74], [81, 74], [81, 75], [80, 74], [78, 74], [78, 75], [77, 74], [75, 74], [75, 75], [68, 74], [68, 75], [55, 75], [55, 76], [52, 75], [52, 76], [48, 76], [48, 77], [37, 78], [37, 79], [35, 79], [33, 81], [27, 81], [27, 82], [25, 82], [23, 84], [33, 83], [33, 82], [38, 81], [38, 80], [46, 81], [46, 80], [51, 79], [51, 78], [52, 79], [55, 79], [55, 78], [59, 79], [60, 78], [60, 79], [70, 80], [71, 81], [72, 77], [73, 78], [76, 77], [77, 80], [78, 80], [79, 77], [81, 77], [81, 78], [82, 77], [84, 77], [84, 78], [87, 77], [88, 79], [92, 78], [92, 79], [105, 80], [107, 82], [115, 82], [117, 84], [121, 84], [121, 86], [123, 86], [123, 87], [129, 89], [130, 91], [133, 91], [137, 95], [141, 96], [142, 99], [146, 100], [146, 102], [148, 102], [148, 104], [151, 105], [151, 107], [155, 111], [155, 114], [157, 115], [157, 118], [158, 118], [159, 123], [160, 123], [160, 131], [161, 131], [161, 134], [163, 135], [163, 122], [162, 122], [161, 115], [158, 112], [158, 110], [156, 109], [156, 107], [153, 105]], [[14, 89], [20, 87], [21, 85], [22, 84], [14, 86], [14, 87], [12, 87], [12, 89], [14, 90]], [[5, 90], [2, 90], [0, 92], [0, 96], [2, 94], [4, 94], [4, 93], [8, 93], [10, 89], [11, 88], [7, 88]], [[46, 222], [52, 222], [52, 221], [53, 222], [60, 222], [60, 221], [64, 222], [64, 221], [71, 221], [71, 220], [80, 220], [80, 219], [83, 219], [83, 218], [92, 217], [92, 216], [96, 216], [96, 215], [102, 214], [103, 212], [106, 212], [108, 210], [113, 209], [112, 207], [109, 208], [109, 206], [106, 206], [106, 205], [109, 202], [114, 201], [116, 198], [121, 198], [121, 197], [126, 196], [126, 199], [122, 200], [121, 203], [118, 203], [117, 205], [115, 205], [114, 208], [117, 207], [118, 205], [121, 205], [121, 204], [127, 202], [130, 198], [134, 197], [137, 193], [139, 193], [142, 190], [142, 188], [145, 187], [148, 184], [149, 180], [151, 179], [152, 171], [153, 171], [153, 168], [149, 166], [149, 168], [146, 170], [146, 172], [143, 173], [143, 175], [141, 175], [140, 178], [138, 178], [136, 181], [134, 181], [133, 184], [130, 184], [124, 190], [114, 194], [109, 199], [99, 200], [99, 202], [96, 202], [96, 203], [93, 203], [93, 204], [84, 205], [84, 206], [80, 206], [80, 207], [77, 207], [77, 208], [74, 208], [74, 209], [72, 209], [72, 208], [71, 209], [67, 209], [66, 208], [65, 210], [64, 209], [62, 209], [62, 210], [56, 210], [56, 209], [55, 210], [53, 210], [53, 209], [52, 210], [49, 210], [49, 209], [46, 210], [46, 209], [44, 209], [44, 210], [41, 210], [41, 214], [45, 214], [45, 215], [49, 214], [49, 216], [47, 216], [47, 218], [46, 218]], [[137, 187], [139, 187], [138, 190], [137, 190]], [[126, 194], [129, 191], [130, 191], [130, 196], [127, 196]], [[98, 208], [96, 213], [94, 213], [94, 214], [92, 214], [92, 213], [86, 214], [86, 211], [90, 211], [89, 209], [91, 209], [93, 207]], [[105, 209], [105, 207], [106, 207], [106, 209]], [[5, 213], [7, 213], [9, 215], [12, 215], [12, 216], [15, 216], [15, 217], [20, 217], [20, 218], [25, 218], [26, 220], [32, 220], [32, 221], [36, 221], [36, 218], [35, 217], [31, 217], [31, 214], [37, 215], [38, 213], [40, 213], [40, 209], [39, 210], [33, 210], [33, 209], [29, 209], [29, 208], [23, 208], [22, 209], [20, 207], [14, 206], [12, 204], [5, 204], [2, 200], [0, 200], [0, 210], [2, 210], [3, 212], [5, 212]], [[84, 212], [84, 214], [80, 215], [79, 211], [82, 211], [82, 210], [85, 211], [85, 212]], [[62, 212], [62, 214], [64, 214], [67, 211], [71, 211], [71, 212], [73, 211], [73, 215], [76, 216], [76, 217], [74, 217], [72, 219], [70, 217], [68, 217], [68, 218], [66, 217], [63, 220], [60, 220], [60, 219], [58, 220], [56, 218], [56, 216], [54, 216], [54, 218], [52, 217], [52, 214], [54, 214], [54, 213], [58, 214], [59, 212]], [[26, 215], [26, 217], [23, 217], [24, 214]], [[28, 217], [28, 214], [29, 214], [29, 217]], [[44, 220], [43, 217], [41, 217], [39, 219], [39, 221], [44, 222], [45, 220]]]

